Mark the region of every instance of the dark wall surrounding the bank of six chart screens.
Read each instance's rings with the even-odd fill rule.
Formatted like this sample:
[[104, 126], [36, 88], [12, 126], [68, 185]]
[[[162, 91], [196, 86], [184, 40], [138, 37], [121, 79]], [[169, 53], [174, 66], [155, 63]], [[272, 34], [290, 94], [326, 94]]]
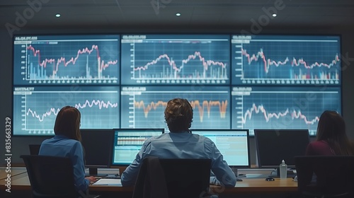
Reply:
[[[235, 24], [236, 25], [236, 24]], [[159, 27], [161, 28], [161, 27]], [[99, 31], [98, 31], [99, 29]], [[249, 30], [249, 27], [167, 27], [159, 33], [240, 33], [241, 30]], [[97, 27], [52, 27], [52, 28], [33, 28], [25, 30], [25, 27], [17, 34], [60, 34], [60, 33], [156, 33], [156, 27], [144, 28], [144, 26], [127, 27], [127, 28], [97, 28]], [[348, 135], [354, 139], [354, 28], [329, 28], [329, 27], [264, 27], [261, 34], [336, 34], [342, 37], [342, 64], [343, 64], [343, 117], [348, 127]], [[4, 28], [0, 27], [0, 81], [1, 81], [1, 132], [0, 132], [0, 155], [5, 158], [5, 119], [12, 116], [12, 38]], [[12, 136], [11, 138], [11, 160], [13, 165], [22, 163], [19, 156], [29, 153], [28, 144], [40, 144], [47, 137], [28, 137], [28, 136]], [[2, 160], [0, 164], [4, 164]], [[251, 138], [251, 163], [256, 164], [256, 148], [254, 138]]]

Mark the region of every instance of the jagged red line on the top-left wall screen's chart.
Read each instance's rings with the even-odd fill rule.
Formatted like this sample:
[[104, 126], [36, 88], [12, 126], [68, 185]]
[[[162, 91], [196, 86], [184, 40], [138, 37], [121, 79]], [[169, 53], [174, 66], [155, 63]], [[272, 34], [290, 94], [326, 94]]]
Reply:
[[38, 57], [38, 63], [40, 66], [45, 68], [45, 67], [47, 67], [47, 64], [54, 64], [55, 65], [55, 68], [53, 69], [54, 75], [57, 74], [60, 63], [63, 63], [64, 66], [68, 66], [69, 64], [75, 64], [76, 60], [79, 59], [79, 56], [81, 54], [86, 54], [86, 53], [91, 54], [91, 52], [93, 52], [93, 50], [96, 50], [99, 71], [103, 71], [108, 66], [118, 63], [118, 60], [108, 61], [107, 63], [105, 63], [103, 60], [101, 61], [100, 52], [98, 50], [98, 45], [92, 45], [91, 50], [88, 47], [86, 47], [82, 50], [78, 50], [76, 57], [72, 57], [69, 60], [65, 59], [65, 57], [60, 57], [59, 59], [44, 59], [44, 60], [42, 60], [40, 57], [40, 50], [35, 50], [35, 48], [32, 45], [29, 45], [27, 47], [27, 50], [32, 51], [33, 56]]

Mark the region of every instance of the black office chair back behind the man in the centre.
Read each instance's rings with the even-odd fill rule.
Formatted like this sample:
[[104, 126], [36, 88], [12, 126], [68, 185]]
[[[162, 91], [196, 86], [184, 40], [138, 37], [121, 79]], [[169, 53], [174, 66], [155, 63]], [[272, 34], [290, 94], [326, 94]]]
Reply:
[[133, 198], [209, 197], [210, 159], [144, 158]]

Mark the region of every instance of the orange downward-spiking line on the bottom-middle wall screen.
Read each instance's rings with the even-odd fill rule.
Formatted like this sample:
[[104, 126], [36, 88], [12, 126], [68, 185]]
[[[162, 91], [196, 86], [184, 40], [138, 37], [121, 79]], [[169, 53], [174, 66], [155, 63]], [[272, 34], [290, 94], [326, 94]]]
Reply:
[[[190, 105], [193, 107], [193, 109], [198, 109], [200, 122], [202, 122], [205, 109], [207, 110], [207, 117], [210, 117], [210, 111], [211, 111], [212, 106], [219, 107], [220, 117], [225, 118], [228, 101], [225, 100], [225, 101], [220, 102], [218, 100], [217, 101], [203, 100], [202, 103], [200, 103], [199, 100], [192, 100], [192, 101], [190, 101]], [[151, 110], [156, 110], [156, 108], [159, 106], [166, 107], [167, 102], [159, 100], [159, 101], [157, 101], [157, 103], [151, 102], [151, 103], [145, 105], [143, 100], [134, 101], [134, 107], [139, 108], [139, 109], [142, 108], [144, 111], [145, 117], [148, 116], [148, 114]]]

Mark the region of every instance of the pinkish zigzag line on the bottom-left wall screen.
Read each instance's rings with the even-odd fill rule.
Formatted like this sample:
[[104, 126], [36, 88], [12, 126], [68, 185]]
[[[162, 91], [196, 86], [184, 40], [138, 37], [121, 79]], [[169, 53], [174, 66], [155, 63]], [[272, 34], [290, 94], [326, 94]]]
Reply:
[[[108, 101], [107, 103], [103, 100], [92, 100], [91, 102], [89, 100], [86, 100], [83, 104], [78, 103], [75, 104], [74, 107], [76, 107], [77, 109], [84, 109], [86, 107], [98, 107], [98, 109], [108, 109], [108, 108], [115, 108], [118, 107], [118, 103], [110, 103], [110, 101]], [[42, 115], [38, 114], [35, 110], [31, 110], [30, 108], [28, 108], [26, 115], [31, 115], [32, 117], [37, 118], [40, 122], [42, 122], [43, 120], [45, 120], [45, 117], [48, 117], [50, 115], [55, 115], [57, 116], [58, 112], [59, 112], [59, 108], [50, 108], [49, 111], [43, 113]]]

